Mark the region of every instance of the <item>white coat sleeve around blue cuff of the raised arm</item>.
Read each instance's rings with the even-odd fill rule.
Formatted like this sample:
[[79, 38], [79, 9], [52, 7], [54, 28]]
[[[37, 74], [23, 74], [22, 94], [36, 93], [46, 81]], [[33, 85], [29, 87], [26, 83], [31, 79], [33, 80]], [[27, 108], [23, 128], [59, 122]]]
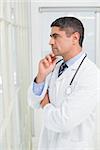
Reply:
[[31, 82], [31, 84], [28, 88], [28, 98], [27, 98], [28, 99], [28, 104], [29, 104], [30, 107], [36, 108], [36, 109], [40, 108], [40, 102], [44, 98], [44, 96], [47, 92], [50, 77], [51, 77], [51, 73], [47, 76], [47, 78], [45, 80], [44, 88], [43, 88], [43, 91], [42, 91], [41, 95], [36, 95], [33, 92], [33, 82]]

